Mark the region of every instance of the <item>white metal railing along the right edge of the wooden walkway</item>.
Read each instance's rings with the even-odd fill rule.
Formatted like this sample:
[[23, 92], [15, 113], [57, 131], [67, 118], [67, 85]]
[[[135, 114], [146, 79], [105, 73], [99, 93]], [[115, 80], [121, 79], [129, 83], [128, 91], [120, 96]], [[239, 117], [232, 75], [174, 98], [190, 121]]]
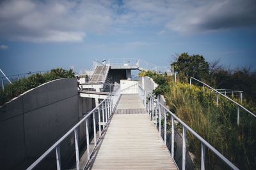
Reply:
[[[140, 90], [143, 90], [140, 87]], [[144, 92], [145, 94], [145, 92]], [[143, 97], [143, 95], [140, 95]], [[145, 100], [145, 97], [141, 100]], [[178, 118], [172, 111], [168, 110], [163, 104], [159, 103], [157, 99], [155, 99], [154, 96], [151, 94], [148, 94], [148, 102], [145, 103], [145, 108], [148, 111], [148, 114], [150, 115], [151, 120], [154, 122], [157, 128], [157, 124], [159, 127], [159, 135], [161, 136], [161, 129], [164, 127], [164, 136], [163, 141], [166, 145], [166, 134], [167, 134], [167, 117], [171, 116], [171, 122], [172, 122], [172, 135], [171, 135], [171, 156], [174, 160], [174, 134], [175, 134], [175, 121], [179, 122], [179, 124], [182, 125], [182, 169], [186, 169], [186, 132], [189, 131], [195, 138], [197, 138], [201, 142], [201, 169], [205, 169], [205, 147], [209, 148], [209, 150], [214, 153], [217, 157], [219, 157], [227, 166], [231, 167], [232, 169], [238, 169], [232, 162], [230, 162], [226, 157], [224, 157], [218, 150], [216, 150], [211, 144], [209, 144], [207, 141], [205, 141], [204, 138], [202, 138], [199, 134], [197, 134], [191, 127], [189, 127], [187, 124], [185, 124], [180, 118]], [[162, 114], [164, 115], [162, 118]], [[158, 121], [157, 121], [158, 120]], [[163, 120], [163, 123], [162, 123]]]

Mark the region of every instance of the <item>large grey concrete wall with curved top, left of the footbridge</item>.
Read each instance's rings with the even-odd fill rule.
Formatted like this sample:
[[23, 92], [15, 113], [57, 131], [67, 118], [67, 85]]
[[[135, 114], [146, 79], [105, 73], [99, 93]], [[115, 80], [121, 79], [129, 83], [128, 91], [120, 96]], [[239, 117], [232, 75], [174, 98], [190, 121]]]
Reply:
[[[40, 85], [2, 106], [1, 169], [26, 168], [70, 129], [82, 113], [92, 110], [92, 103], [93, 99], [79, 99], [76, 78], [65, 78]], [[70, 145], [72, 136], [67, 139], [67, 146]], [[61, 152], [65, 152], [65, 147], [62, 148]]]

